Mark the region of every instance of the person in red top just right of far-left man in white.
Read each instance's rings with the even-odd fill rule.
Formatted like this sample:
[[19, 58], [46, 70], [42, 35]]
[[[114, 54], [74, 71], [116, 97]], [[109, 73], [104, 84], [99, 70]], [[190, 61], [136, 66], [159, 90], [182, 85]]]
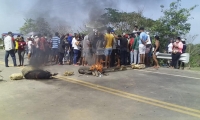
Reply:
[[18, 41], [18, 56], [19, 56], [19, 66], [24, 66], [24, 54], [25, 54], [26, 42], [24, 38], [21, 37]]

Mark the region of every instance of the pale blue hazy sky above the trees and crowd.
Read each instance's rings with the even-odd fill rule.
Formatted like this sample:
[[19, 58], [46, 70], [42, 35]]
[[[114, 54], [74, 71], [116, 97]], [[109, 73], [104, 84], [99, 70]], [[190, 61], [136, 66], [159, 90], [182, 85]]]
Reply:
[[[103, 8], [112, 7], [119, 11], [132, 12], [144, 9], [145, 17], [158, 19], [163, 16], [160, 5], [168, 8], [175, 0], [0, 0], [0, 33], [8, 31], [19, 32], [25, 18], [34, 18], [41, 15], [51, 24], [67, 23], [72, 26], [81, 26], [91, 16], [101, 14]], [[101, 2], [100, 2], [101, 1]], [[183, 8], [200, 5], [200, 0], [182, 0]], [[200, 6], [191, 12], [188, 22], [191, 23], [189, 35], [199, 34]], [[55, 22], [57, 21], [57, 22]], [[194, 43], [200, 43], [200, 34]]]

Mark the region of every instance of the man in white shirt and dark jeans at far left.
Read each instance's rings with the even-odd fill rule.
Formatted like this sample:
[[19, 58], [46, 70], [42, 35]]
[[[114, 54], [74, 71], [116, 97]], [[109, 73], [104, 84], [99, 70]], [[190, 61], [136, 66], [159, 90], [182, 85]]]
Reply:
[[14, 51], [15, 47], [14, 47], [14, 43], [13, 43], [13, 40], [12, 40], [12, 32], [8, 32], [8, 35], [4, 39], [4, 44], [5, 44], [5, 51], [6, 51], [6, 54], [5, 54], [5, 66], [9, 67], [8, 66], [8, 57], [9, 57], [9, 55], [12, 57], [14, 66], [17, 66], [16, 57], [15, 57], [15, 51]]

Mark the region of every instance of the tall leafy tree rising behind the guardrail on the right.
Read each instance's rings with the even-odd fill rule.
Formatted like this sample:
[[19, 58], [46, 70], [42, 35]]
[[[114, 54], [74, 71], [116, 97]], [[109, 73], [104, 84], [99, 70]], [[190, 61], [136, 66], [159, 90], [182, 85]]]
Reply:
[[190, 12], [194, 10], [197, 5], [187, 9], [181, 8], [181, 0], [172, 2], [170, 8], [164, 10], [164, 6], [161, 5], [163, 17], [158, 19], [152, 31], [161, 37], [162, 48], [168, 43], [167, 39], [175, 39], [178, 36], [183, 36], [189, 33], [191, 24], [188, 20], [191, 19]]

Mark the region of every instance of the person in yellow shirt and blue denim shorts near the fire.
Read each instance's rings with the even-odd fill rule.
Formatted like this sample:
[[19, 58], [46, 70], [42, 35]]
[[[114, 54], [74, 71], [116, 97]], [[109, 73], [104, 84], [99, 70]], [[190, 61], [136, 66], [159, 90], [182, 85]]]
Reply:
[[110, 57], [113, 48], [114, 36], [111, 34], [111, 30], [107, 30], [107, 34], [105, 35], [105, 67], [110, 67]]

